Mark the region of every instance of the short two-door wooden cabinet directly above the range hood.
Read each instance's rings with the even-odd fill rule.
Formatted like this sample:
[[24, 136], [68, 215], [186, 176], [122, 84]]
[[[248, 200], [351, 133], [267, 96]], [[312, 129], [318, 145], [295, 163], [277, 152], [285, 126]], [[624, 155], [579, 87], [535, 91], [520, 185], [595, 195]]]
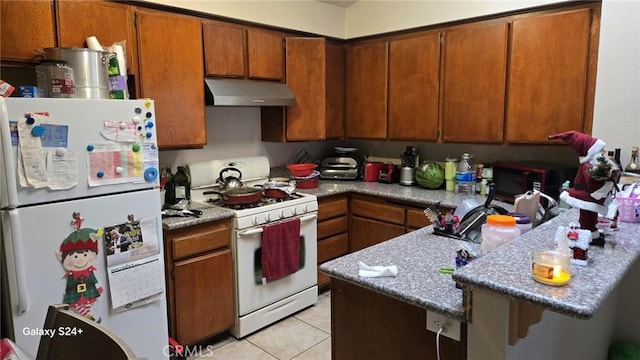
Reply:
[[283, 36], [273, 31], [204, 21], [207, 76], [281, 81], [284, 78]]

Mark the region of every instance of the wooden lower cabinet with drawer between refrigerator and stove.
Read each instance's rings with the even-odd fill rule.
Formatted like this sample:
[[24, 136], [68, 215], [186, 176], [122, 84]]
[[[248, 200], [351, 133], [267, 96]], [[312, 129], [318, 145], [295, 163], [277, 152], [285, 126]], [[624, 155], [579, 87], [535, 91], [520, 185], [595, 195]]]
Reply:
[[165, 230], [169, 334], [194, 344], [234, 324], [229, 220]]

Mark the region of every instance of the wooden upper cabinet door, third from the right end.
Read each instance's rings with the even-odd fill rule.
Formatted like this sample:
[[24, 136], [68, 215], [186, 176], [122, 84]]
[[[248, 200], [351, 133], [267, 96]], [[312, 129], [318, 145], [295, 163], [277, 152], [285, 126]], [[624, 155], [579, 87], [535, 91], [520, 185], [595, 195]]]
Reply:
[[439, 33], [389, 42], [389, 140], [438, 140]]

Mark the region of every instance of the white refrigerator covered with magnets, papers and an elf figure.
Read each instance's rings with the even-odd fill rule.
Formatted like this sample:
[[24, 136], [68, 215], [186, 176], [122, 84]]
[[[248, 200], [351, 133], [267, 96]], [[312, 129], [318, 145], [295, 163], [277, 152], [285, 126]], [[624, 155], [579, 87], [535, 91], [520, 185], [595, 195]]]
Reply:
[[168, 358], [153, 100], [0, 98], [3, 302], [35, 357], [47, 308]]

